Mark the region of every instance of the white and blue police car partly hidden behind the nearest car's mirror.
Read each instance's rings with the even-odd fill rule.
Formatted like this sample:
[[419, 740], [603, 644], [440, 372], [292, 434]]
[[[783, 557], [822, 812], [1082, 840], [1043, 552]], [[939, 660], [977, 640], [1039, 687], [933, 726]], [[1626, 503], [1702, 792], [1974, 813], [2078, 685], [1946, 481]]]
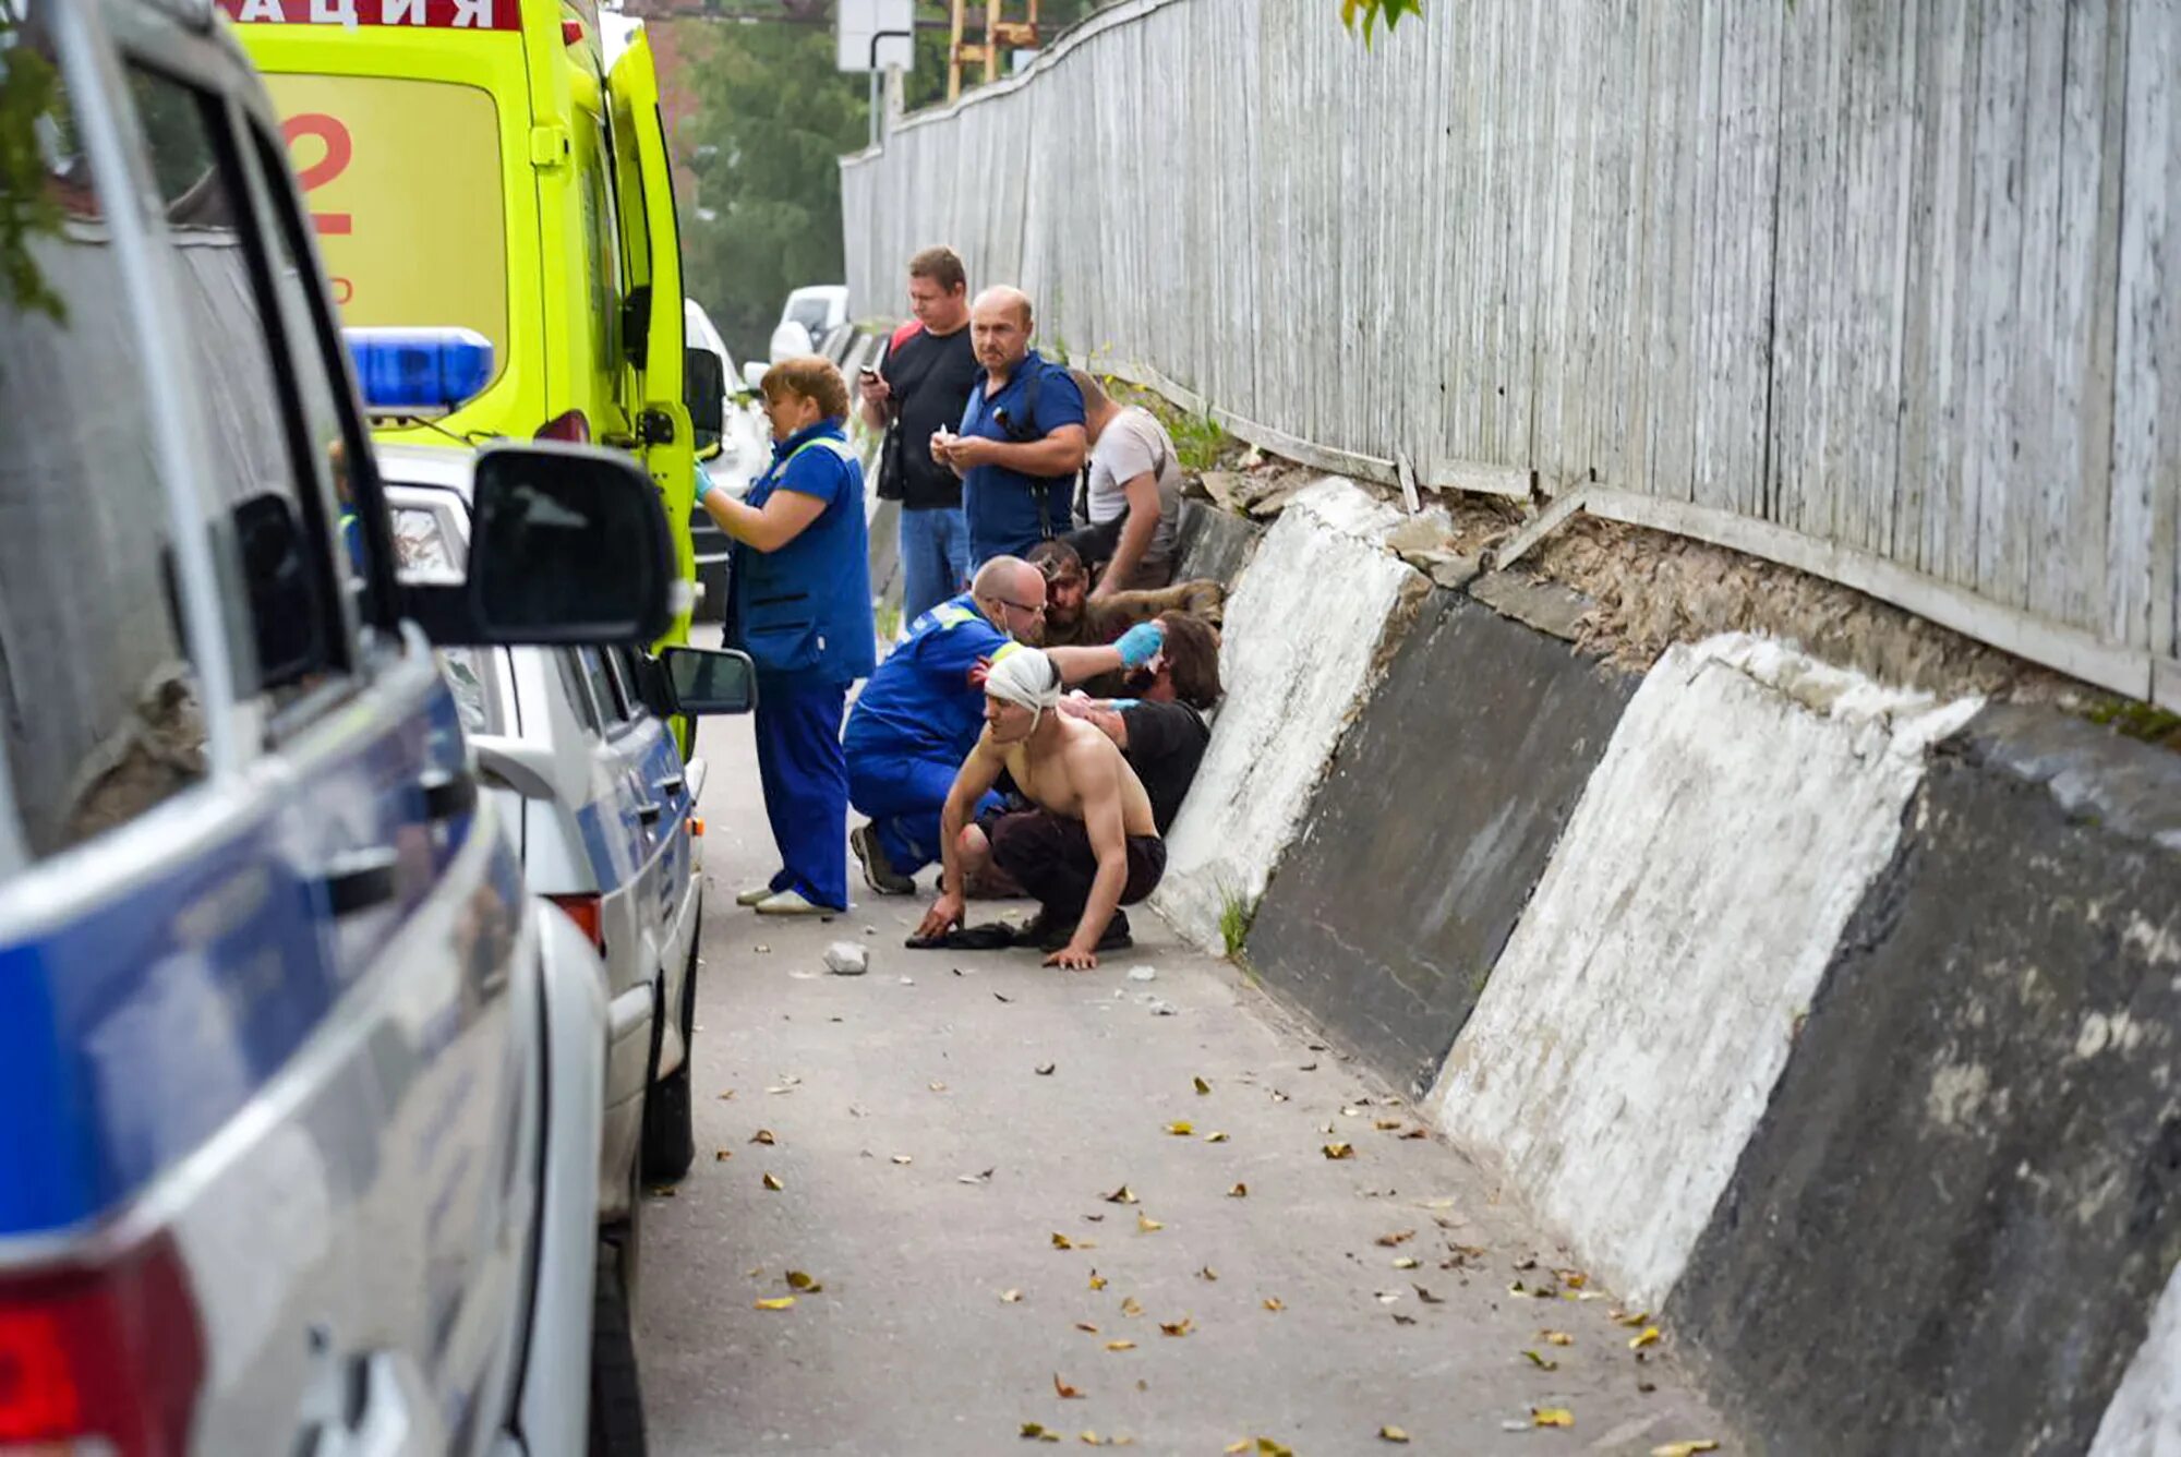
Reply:
[[[469, 545], [467, 449], [384, 447], [403, 571], [458, 582]], [[667, 648], [454, 650], [447, 676], [489, 781], [504, 785], [530, 890], [598, 944], [613, 1008], [600, 1208], [635, 1215], [632, 1189], [676, 1180], [696, 1149], [696, 1027], [704, 761], [683, 763], [674, 713], [748, 711], [739, 652]]]

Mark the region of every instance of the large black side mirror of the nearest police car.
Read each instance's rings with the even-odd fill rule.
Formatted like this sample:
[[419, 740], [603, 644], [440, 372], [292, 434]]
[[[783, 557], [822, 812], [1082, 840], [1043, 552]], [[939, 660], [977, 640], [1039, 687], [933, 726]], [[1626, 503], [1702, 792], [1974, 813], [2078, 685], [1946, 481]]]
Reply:
[[462, 585], [408, 585], [401, 606], [438, 646], [648, 643], [672, 624], [674, 580], [659, 491], [630, 456], [491, 445], [471, 475]]

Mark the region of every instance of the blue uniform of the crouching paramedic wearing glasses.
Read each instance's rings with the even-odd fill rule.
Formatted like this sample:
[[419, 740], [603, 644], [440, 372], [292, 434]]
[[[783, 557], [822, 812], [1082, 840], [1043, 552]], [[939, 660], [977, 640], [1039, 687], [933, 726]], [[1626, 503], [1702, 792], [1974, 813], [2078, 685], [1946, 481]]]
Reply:
[[[953, 776], [984, 733], [979, 661], [1010, 650], [1012, 639], [962, 593], [909, 624], [855, 700], [848, 715], [848, 803], [870, 816], [885, 859], [916, 875], [940, 859], [940, 811]], [[997, 807], [988, 794], [977, 809]]]

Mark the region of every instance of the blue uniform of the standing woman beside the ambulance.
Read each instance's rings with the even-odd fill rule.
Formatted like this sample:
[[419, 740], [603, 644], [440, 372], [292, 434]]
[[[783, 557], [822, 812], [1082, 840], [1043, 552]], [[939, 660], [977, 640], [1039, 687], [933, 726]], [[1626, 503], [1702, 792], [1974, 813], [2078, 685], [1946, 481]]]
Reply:
[[781, 851], [772, 890], [848, 907], [848, 768], [840, 718], [848, 685], [872, 670], [870, 537], [864, 467], [838, 419], [779, 441], [750, 506], [774, 491], [824, 502], [803, 532], [772, 550], [733, 545], [726, 641], [757, 663], [757, 776]]

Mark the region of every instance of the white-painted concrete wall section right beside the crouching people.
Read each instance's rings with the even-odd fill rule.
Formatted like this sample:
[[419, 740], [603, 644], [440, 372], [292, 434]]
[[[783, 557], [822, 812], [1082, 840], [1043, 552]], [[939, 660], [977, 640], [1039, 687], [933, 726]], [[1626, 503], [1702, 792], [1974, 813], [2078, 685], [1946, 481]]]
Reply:
[[1265, 894], [1376, 676], [1389, 622], [1424, 593], [1424, 578], [1381, 545], [1396, 521], [1361, 489], [1328, 478], [1265, 532], [1228, 598], [1226, 702], [1154, 901], [1200, 947], [1221, 947], [1221, 907], [1254, 907]]

